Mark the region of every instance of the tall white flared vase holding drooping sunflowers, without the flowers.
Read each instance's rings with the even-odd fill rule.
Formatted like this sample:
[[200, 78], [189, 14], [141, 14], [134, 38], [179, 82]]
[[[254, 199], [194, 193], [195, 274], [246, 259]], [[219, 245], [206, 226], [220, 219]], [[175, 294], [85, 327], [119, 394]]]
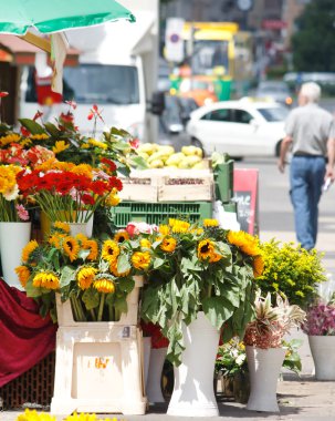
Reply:
[[174, 370], [175, 387], [168, 415], [219, 415], [213, 390], [219, 335], [202, 311], [198, 312], [197, 319], [189, 326], [182, 326], [186, 349], [181, 356], [181, 364]]

